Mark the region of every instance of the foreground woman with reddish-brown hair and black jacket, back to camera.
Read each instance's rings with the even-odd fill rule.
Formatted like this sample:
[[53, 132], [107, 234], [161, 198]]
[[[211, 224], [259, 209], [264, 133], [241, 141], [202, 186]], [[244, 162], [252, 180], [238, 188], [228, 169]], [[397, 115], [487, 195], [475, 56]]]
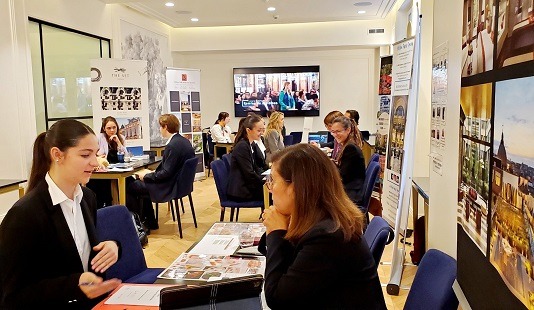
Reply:
[[[297, 144], [273, 155], [273, 205], [262, 215], [271, 309], [386, 309], [363, 239], [362, 212], [343, 191], [330, 159]], [[265, 248], [266, 245], [266, 248]]]

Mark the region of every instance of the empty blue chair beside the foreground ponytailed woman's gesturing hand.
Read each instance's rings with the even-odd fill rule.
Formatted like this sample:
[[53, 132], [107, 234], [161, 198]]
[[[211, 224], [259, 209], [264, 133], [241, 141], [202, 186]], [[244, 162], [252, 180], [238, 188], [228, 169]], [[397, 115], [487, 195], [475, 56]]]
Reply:
[[98, 209], [96, 214], [98, 240], [116, 240], [121, 245], [121, 257], [106, 271], [106, 279], [118, 278], [125, 283], [154, 283], [164, 268], [147, 268], [130, 211], [125, 206], [109, 206]]

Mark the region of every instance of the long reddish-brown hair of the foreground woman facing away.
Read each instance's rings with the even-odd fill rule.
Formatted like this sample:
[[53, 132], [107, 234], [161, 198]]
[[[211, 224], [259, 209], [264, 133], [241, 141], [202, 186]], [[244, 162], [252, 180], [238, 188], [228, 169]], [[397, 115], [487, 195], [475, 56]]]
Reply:
[[363, 213], [347, 196], [335, 165], [319, 148], [296, 144], [275, 153], [272, 163], [295, 191], [286, 239], [297, 242], [327, 218], [334, 221], [333, 231], [340, 229], [346, 241], [361, 238]]

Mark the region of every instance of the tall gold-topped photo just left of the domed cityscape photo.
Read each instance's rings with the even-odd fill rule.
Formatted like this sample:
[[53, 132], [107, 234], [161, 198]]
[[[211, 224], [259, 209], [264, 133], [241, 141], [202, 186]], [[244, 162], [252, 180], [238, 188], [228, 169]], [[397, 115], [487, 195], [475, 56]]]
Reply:
[[460, 91], [460, 185], [457, 221], [486, 254], [491, 155], [491, 83]]

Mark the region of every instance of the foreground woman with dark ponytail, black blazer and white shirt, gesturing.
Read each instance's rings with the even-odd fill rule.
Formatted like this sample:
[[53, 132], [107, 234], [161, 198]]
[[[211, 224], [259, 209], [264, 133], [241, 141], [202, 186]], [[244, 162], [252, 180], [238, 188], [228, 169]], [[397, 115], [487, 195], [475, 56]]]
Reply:
[[28, 193], [0, 225], [1, 309], [90, 309], [120, 284], [101, 277], [119, 249], [97, 242], [95, 195], [80, 186], [97, 151], [93, 130], [76, 120], [35, 140]]

